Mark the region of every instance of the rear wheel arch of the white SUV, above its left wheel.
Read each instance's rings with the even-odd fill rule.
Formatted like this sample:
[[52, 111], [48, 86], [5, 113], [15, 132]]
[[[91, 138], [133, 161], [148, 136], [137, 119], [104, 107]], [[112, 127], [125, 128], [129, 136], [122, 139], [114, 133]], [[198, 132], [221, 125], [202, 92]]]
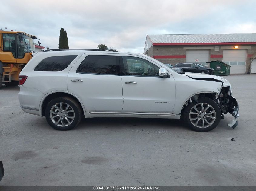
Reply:
[[85, 116], [85, 107], [84, 107], [83, 103], [81, 102], [81, 100], [75, 94], [72, 94], [68, 91], [52, 91], [52, 92], [49, 92], [48, 94], [46, 94], [42, 98], [40, 105], [39, 105], [40, 116], [45, 116], [45, 108], [46, 108], [47, 103], [49, 103], [50, 100], [57, 98], [57, 97], [71, 97], [74, 100], [76, 100], [82, 107], [83, 115]]

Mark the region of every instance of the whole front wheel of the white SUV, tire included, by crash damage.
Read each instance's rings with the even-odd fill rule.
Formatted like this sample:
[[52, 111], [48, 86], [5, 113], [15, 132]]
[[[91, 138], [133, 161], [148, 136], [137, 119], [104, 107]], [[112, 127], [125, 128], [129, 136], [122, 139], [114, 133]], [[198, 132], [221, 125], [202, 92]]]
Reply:
[[221, 110], [214, 100], [204, 97], [189, 103], [184, 109], [184, 118], [189, 127], [198, 132], [214, 129], [221, 120]]

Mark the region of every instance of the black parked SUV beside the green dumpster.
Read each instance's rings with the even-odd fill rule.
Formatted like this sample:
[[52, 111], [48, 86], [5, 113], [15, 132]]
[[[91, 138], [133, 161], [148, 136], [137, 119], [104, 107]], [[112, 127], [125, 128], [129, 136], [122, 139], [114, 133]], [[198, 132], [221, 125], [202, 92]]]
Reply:
[[182, 68], [184, 72], [213, 74], [213, 68], [197, 63], [177, 63], [175, 64], [175, 67]]

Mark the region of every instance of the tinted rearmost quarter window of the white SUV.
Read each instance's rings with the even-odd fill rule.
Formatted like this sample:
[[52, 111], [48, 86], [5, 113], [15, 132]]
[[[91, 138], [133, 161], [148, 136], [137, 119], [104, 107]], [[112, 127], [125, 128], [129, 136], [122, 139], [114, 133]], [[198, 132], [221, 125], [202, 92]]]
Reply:
[[52, 56], [43, 59], [35, 67], [34, 71], [56, 72], [62, 71], [77, 57], [77, 55]]

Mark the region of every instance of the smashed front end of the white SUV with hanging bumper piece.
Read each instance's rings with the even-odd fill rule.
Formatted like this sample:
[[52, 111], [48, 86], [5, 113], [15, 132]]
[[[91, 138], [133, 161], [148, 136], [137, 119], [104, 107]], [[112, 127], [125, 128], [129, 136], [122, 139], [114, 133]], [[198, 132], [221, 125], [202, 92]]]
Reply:
[[[234, 116], [234, 119], [228, 123], [228, 126], [234, 129], [238, 125], [237, 119], [239, 117], [239, 105], [236, 98], [232, 96], [232, 89], [230, 85], [221, 88], [217, 101], [221, 109], [221, 113], [231, 113]], [[223, 118], [224, 116], [222, 115], [222, 119]]]

